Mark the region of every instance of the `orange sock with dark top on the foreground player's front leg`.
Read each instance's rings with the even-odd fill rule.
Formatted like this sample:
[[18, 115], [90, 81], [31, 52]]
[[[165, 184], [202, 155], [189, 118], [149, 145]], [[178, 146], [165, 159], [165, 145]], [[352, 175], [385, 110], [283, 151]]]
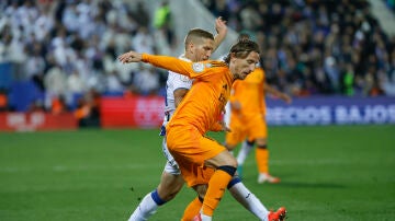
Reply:
[[230, 168], [232, 172], [226, 172], [221, 167], [223, 166], [219, 166], [219, 168], [214, 172], [213, 176], [208, 182], [208, 188], [202, 206], [203, 214], [206, 214], [208, 217], [213, 217], [214, 210], [217, 208], [219, 200], [225, 193], [226, 186], [228, 185], [229, 181], [233, 177], [233, 174], [235, 174], [236, 171], [236, 168], [233, 166], [225, 166], [227, 168]]

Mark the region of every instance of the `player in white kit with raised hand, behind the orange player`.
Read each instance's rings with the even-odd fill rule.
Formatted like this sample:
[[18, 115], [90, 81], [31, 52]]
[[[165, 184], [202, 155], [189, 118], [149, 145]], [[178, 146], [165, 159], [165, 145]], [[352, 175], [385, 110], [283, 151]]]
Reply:
[[[226, 36], [227, 27], [224, 21], [221, 18], [216, 20], [215, 28], [217, 35], [214, 40], [213, 37], [206, 36], [205, 31], [194, 28], [189, 32], [185, 37], [185, 54], [179, 58], [185, 61], [196, 62], [202, 60], [207, 60], [212, 53], [219, 46], [222, 40]], [[203, 33], [203, 34], [202, 34]], [[161, 136], [166, 136], [166, 125], [170, 120], [172, 114], [174, 113], [178, 104], [182, 101], [183, 96], [188, 93], [192, 86], [192, 80], [188, 77], [181, 75], [179, 73], [169, 71], [167, 80], [167, 95], [166, 95], [166, 107], [165, 107], [165, 119], [161, 127]], [[181, 190], [184, 181], [180, 174], [177, 162], [170, 154], [166, 146], [166, 138], [162, 140], [162, 151], [167, 158], [167, 163], [161, 175], [161, 181], [158, 187], [147, 194], [135, 211], [129, 217], [128, 221], [144, 221], [148, 220], [153, 216], [159, 206], [170, 201], [174, 196]], [[199, 194], [199, 200], [203, 201], [205, 194], [204, 185], [195, 188]], [[260, 202], [260, 200], [250, 193], [241, 183], [241, 181], [235, 176], [227, 187], [233, 195], [233, 197], [239, 201], [246, 209], [251, 213], [258, 217], [260, 220], [268, 219], [268, 210]], [[193, 201], [191, 202], [193, 203]], [[187, 210], [185, 210], [187, 211]], [[196, 211], [198, 213], [199, 211]], [[182, 220], [191, 220], [193, 217], [184, 217]]]

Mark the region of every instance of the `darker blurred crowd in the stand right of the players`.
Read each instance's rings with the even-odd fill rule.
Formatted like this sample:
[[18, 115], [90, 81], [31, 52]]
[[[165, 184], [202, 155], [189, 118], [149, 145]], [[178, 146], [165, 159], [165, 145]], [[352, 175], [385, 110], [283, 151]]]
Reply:
[[294, 96], [394, 95], [395, 36], [364, 0], [202, 0], [253, 36], [267, 79]]

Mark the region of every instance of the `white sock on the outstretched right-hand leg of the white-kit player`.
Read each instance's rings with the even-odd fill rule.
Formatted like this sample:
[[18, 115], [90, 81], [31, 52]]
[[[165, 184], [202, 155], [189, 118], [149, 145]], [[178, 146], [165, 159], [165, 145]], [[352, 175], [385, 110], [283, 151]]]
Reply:
[[269, 211], [262, 202], [241, 183], [229, 188], [232, 196], [260, 220], [267, 220]]

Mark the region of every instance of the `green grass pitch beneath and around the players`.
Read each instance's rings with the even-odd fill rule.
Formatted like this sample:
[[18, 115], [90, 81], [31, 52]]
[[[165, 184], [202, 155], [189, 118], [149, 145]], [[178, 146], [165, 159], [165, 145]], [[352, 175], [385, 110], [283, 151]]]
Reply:
[[[159, 182], [158, 130], [0, 133], [0, 220], [127, 220]], [[222, 133], [210, 133], [223, 141]], [[244, 182], [287, 220], [393, 220], [395, 127], [271, 127], [270, 168], [281, 184], [258, 185], [255, 156]], [[179, 220], [189, 188], [150, 220]], [[215, 220], [257, 220], [228, 193]]]

